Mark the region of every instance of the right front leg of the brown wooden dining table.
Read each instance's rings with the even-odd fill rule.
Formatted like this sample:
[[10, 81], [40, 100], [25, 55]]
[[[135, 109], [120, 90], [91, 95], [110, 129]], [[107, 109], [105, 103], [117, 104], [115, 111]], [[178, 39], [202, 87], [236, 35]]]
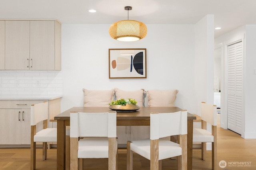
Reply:
[[188, 120], [188, 170], [192, 170], [193, 120]]

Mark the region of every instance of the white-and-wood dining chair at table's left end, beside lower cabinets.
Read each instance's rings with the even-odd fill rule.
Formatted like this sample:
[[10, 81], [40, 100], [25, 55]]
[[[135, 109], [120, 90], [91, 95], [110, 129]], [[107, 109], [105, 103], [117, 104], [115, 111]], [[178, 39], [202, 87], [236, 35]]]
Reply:
[[[36, 132], [36, 123], [43, 129]], [[48, 102], [31, 105], [30, 170], [36, 169], [36, 142], [43, 143], [43, 160], [47, 159], [47, 142], [57, 142], [57, 128], [48, 128]]]

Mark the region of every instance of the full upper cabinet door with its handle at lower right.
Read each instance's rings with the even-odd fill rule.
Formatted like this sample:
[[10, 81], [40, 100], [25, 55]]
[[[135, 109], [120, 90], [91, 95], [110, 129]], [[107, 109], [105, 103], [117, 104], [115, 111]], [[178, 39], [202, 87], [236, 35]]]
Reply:
[[29, 70], [30, 21], [5, 21], [5, 69]]

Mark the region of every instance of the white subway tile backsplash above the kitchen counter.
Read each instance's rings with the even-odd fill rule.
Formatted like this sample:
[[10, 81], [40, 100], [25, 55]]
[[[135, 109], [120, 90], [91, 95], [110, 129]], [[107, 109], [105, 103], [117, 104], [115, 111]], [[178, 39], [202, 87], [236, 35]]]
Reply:
[[0, 70], [0, 95], [63, 94], [62, 71]]

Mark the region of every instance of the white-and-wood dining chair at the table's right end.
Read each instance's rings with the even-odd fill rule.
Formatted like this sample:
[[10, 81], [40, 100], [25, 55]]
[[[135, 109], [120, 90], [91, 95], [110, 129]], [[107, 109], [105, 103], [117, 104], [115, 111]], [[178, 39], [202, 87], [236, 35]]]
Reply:
[[[212, 143], [212, 170], [217, 168], [217, 107], [202, 102], [202, 128], [193, 129], [193, 143], [202, 143], [202, 160], [205, 160], [206, 143]], [[212, 133], [206, 130], [207, 123], [212, 126]]]

